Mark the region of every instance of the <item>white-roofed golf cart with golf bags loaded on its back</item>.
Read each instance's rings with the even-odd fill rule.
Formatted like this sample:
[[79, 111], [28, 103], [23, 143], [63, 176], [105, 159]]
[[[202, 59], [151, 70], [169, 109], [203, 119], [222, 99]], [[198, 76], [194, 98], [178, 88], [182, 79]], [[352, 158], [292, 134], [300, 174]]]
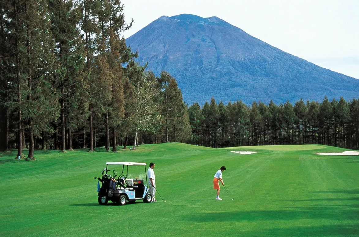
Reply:
[[[117, 170], [122, 169], [121, 174], [117, 175], [116, 170], [113, 169], [111, 176], [108, 173], [111, 171], [109, 168], [115, 167]], [[145, 172], [143, 173], [143, 171]], [[100, 205], [106, 205], [108, 201], [125, 205], [127, 202], [134, 203], [136, 200], [144, 202], [152, 200], [152, 195], [148, 192], [146, 163], [107, 162], [106, 169], [102, 171], [102, 177], [95, 177], [95, 179], [102, 184], [98, 192]], [[146, 185], [144, 181], [146, 181]]]

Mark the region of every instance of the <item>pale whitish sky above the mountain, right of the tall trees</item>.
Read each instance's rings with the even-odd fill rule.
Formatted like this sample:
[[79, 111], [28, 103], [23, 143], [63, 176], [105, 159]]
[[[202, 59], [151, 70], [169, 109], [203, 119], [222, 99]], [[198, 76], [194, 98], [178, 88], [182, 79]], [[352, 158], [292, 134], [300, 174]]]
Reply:
[[358, 0], [122, 0], [132, 27], [125, 38], [160, 16], [217, 16], [287, 53], [359, 78]]

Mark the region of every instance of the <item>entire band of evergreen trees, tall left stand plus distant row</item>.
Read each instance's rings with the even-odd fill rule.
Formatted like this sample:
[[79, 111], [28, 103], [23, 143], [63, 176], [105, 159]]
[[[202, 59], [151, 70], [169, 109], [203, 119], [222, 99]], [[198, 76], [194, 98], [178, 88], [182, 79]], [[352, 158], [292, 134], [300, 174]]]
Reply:
[[123, 9], [118, 0], [0, 0], [0, 150], [33, 160], [36, 149], [160, 142], [359, 149], [355, 98], [188, 107], [175, 78], [135, 62]]

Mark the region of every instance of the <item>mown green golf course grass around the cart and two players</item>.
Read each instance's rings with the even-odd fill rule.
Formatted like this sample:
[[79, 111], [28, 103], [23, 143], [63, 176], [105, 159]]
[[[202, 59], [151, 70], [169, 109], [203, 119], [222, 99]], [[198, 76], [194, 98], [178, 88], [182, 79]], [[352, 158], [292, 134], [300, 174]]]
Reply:
[[[102, 149], [101, 149], [102, 150]], [[229, 151], [257, 151], [241, 155]], [[320, 146], [212, 149], [180, 143], [118, 153], [0, 155], [0, 236], [358, 236], [359, 157]], [[157, 203], [97, 203], [107, 161], [156, 163]], [[213, 176], [225, 165], [222, 201]]]

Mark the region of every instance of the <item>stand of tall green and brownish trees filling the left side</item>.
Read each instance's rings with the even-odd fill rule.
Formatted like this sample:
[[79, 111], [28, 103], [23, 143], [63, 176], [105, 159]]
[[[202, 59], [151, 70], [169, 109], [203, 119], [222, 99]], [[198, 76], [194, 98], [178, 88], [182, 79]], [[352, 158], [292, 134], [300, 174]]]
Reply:
[[[145, 71], [119, 0], [0, 0], [0, 150], [188, 141], [176, 80]], [[28, 148], [28, 155], [23, 148]]]

